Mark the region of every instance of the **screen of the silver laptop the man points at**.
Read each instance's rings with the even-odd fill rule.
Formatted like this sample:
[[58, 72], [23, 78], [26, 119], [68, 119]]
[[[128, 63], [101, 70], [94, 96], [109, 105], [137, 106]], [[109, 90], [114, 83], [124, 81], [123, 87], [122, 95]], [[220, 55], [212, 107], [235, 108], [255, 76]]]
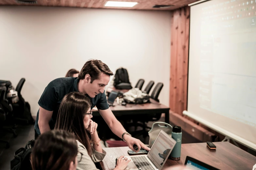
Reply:
[[161, 130], [147, 156], [158, 169], [161, 169], [175, 144], [176, 141]]

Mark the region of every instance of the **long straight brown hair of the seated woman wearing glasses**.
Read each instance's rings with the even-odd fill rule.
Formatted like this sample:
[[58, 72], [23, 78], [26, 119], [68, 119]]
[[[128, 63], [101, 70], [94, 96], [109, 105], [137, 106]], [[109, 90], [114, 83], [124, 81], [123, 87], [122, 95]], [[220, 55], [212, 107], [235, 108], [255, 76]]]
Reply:
[[92, 148], [88, 132], [84, 127], [84, 117], [92, 106], [91, 101], [85, 94], [71, 92], [64, 96], [57, 116], [55, 129], [62, 129], [73, 133], [76, 139], [82, 143], [89, 155], [92, 155]]

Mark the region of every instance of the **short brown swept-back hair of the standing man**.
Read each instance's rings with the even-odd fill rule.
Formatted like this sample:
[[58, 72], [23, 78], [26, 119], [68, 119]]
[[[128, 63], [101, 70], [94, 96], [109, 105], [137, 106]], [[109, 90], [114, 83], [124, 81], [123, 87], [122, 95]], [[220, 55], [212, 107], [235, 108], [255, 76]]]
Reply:
[[83, 80], [85, 75], [89, 74], [91, 76], [91, 83], [99, 79], [99, 75], [103, 73], [108, 76], [113, 76], [113, 72], [109, 69], [107, 64], [103, 63], [100, 60], [89, 60], [87, 61], [81, 71], [78, 74], [78, 79]]

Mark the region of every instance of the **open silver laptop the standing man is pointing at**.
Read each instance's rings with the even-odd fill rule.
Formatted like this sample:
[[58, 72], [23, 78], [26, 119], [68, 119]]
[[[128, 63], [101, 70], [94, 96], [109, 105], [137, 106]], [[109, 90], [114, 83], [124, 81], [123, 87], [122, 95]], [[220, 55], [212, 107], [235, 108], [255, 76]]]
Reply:
[[126, 156], [128, 160], [132, 161], [125, 169], [161, 170], [175, 144], [176, 141], [161, 130], [147, 155]]

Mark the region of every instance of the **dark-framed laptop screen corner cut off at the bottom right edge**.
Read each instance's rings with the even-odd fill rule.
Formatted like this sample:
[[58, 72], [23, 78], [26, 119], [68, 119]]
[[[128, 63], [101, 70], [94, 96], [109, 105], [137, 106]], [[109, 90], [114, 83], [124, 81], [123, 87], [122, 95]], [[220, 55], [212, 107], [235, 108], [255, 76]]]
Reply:
[[211, 165], [198, 161], [189, 156], [186, 157], [185, 166], [196, 170], [219, 170]]

